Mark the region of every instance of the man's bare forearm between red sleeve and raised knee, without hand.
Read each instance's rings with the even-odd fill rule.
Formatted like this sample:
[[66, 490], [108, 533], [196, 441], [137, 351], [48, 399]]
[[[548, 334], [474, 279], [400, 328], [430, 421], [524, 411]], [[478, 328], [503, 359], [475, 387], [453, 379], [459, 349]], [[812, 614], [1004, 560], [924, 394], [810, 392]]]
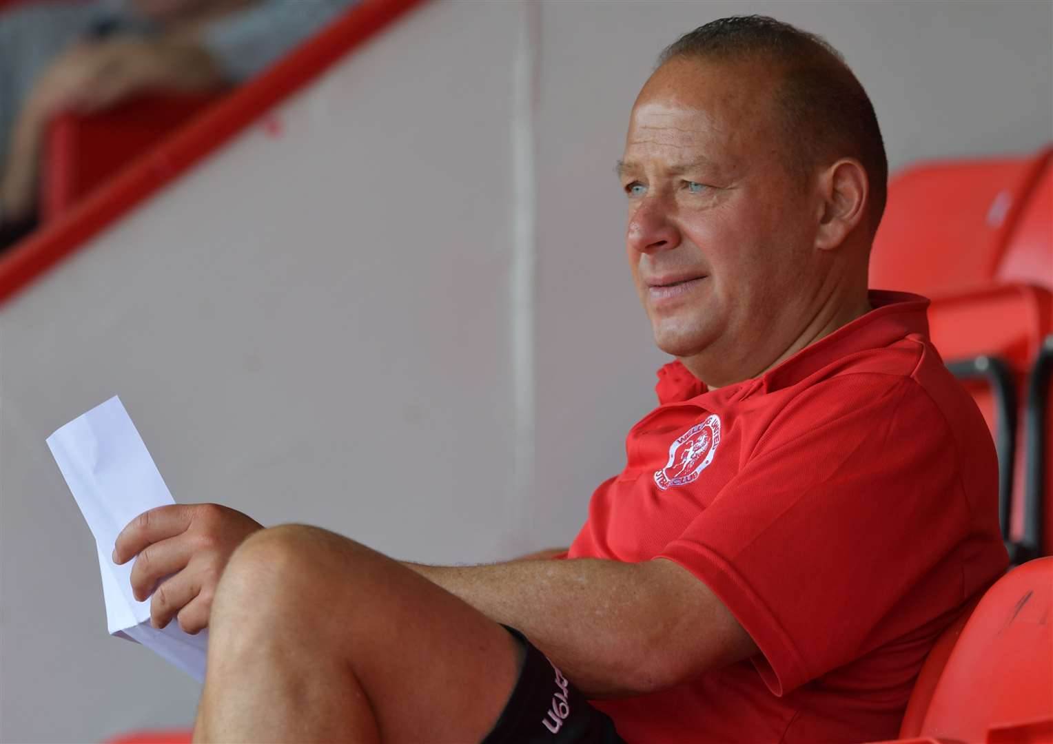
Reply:
[[716, 595], [668, 560], [406, 565], [521, 630], [591, 698], [657, 691], [758, 652]]

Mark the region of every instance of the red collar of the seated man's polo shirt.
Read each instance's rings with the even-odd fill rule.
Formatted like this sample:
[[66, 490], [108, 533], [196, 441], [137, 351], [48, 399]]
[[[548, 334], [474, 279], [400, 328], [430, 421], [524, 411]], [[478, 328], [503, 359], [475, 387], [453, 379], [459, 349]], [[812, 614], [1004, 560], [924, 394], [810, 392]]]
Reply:
[[[760, 382], [764, 393], [793, 385], [850, 354], [888, 346], [910, 334], [928, 338], [928, 299], [906, 291], [882, 289], [871, 289], [869, 298], [873, 307], [870, 313], [823, 336], [761, 375]], [[741, 384], [728, 387], [738, 387]], [[708, 391], [706, 383], [692, 375], [678, 360], [658, 370], [655, 393], [658, 394], [658, 403], [661, 405], [683, 402]]]

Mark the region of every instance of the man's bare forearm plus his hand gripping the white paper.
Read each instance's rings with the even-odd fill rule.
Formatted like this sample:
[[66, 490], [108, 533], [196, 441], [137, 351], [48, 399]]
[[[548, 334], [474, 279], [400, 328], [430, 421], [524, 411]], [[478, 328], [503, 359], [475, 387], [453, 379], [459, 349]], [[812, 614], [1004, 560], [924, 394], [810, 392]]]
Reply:
[[[184, 630], [197, 632], [208, 625], [231, 554], [261, 528], [217, 504], [159, 506], [121, 531], [114, 561], [138, 556], [132, 586], [136, 598], [154, 592], [155, 627], [178, 617]], [[522, 630], [593, 698], [663, 689], [758, 652], [716, 595], [672, 561], [404, 565], [492, 620]]]

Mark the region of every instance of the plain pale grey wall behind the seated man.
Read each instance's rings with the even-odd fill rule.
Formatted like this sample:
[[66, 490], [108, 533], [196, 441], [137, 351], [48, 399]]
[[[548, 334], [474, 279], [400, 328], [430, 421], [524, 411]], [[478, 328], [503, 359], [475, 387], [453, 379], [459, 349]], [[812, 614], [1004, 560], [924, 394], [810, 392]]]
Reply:
[[105, 635], [44, 438], [117, 393], [177, 501], [396, 556], [567, 543], [652, 405], [611, 173], [655, 55], [824, 35], [893, 166], [1053, 137], [1049, 3], [435, 2], [0, 307], [0, 741], [188, 725]]

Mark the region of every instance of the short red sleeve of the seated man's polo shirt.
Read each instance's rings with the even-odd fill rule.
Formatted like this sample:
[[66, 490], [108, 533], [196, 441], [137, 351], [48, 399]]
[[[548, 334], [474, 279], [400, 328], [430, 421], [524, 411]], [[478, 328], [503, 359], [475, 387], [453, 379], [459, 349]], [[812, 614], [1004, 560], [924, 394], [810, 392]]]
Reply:
[[958, 458], [914, 380], [839, 376], [793, 399], [661, 557], [720, 597], [786, 695], [963, 601]]

